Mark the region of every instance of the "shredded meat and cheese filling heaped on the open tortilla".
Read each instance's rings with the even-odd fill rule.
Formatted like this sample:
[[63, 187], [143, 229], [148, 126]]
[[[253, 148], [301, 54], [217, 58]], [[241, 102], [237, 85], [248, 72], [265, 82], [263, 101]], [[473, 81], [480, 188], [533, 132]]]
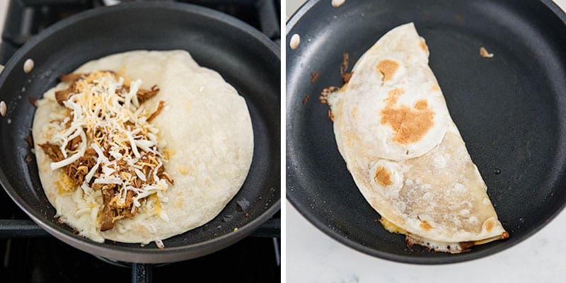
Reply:
[[[157, 95], [159, 88], [140, 88], [114, 71], [67, 74], [61, 81], [69, 88], [55, 93], [67, 115], [50, 122], [47, 142], [41, 149], [53, 161], [51, 170], [62, 168], [59, 192], [80, 187], [91, 200], [100, 231], [120, 219], [136, 215], [151, 202], [156, 214], [168, 221], [159, 204], [173, 180], [165, 172], [166, 158], [158, 149], [158, 129], [151, 120], [163, 109], [163, 100], [152, 113], [141, 104]], [[100, 202], [102, 198], [102, 209]], [[97, 226], [98, 227], [98, 226]]]

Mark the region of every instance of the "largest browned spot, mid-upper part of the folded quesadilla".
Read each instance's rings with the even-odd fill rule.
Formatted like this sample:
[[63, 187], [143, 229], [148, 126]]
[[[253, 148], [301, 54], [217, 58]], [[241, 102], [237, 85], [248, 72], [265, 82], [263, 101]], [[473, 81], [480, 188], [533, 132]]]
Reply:
[[406, 106], [393, 107], [393, 103], [388, 102], [386, 108], [381, 111], [381, 124], [389, 124], [395, 131], [393, 141], [412, 144], [422, 139], [433, 125], [434, 112], [428, 108], [426, 100], [417, 102], [414, 109]]

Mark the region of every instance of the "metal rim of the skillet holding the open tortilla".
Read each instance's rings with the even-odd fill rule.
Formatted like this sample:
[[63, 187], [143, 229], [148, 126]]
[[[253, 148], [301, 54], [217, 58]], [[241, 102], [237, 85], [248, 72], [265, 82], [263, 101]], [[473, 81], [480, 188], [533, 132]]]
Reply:
[[[242, 30], [243, 32], [247, 33], [253, 40], [257, 42], [259, 45], [263, 45], [267, 47], [272, 54], [274, 54], [279, 62], [281, 61], [281, 54], [279, 54], [279, 47], [269, 39], [263, 33], [260, 33], [259, 30], [256, 30], [248, 23], [244, 23], [240, 21], [238, 18], [234, 18], [226, 13], [221, 13], [219, 11], [214, 11], [211, 8], [206, 8], [203, 6], [197, 6], [193, 4], [183, 4], [183, 3], [174, 3], [174, 2], [133, 2], [133, 3], [125, 3], [119, 4], [116, 6], [104, 6], [93, 8], [88, 11], [84, 11], [81, 13], [77, 13], [74, 16], [70, 16], [54, 25], [51, 25], [49, 28], [42, 30], [41, 33], [33, 36], [25, 43], [21, 48], [19, 48], [16, 53], [8, 60], [6, 66], [0, 74], [0, 86], [6, 83], [6, 77], [8, 73], [13, 71], [16, 67], [16, 64], [21, 61], [25, 54], [29, 52], [35, 45], [45, 40], [45, 37], [52, 35], [53, 33], [67, 28], [69, 25], [73, 25], [79, 21], [83, 21], [86, 18], [92, 18], [100, 15], [100, 13], [115, 13], [117, 11], [132, 11], [132, 9], [162, 9], [165, 11], [181, 11], [185, 13], [192, 13], [192, 14], [199, 14], [200, 16], [204, 16], [206, 18], [211, 19], [212, 21], [218, 21], [219, 23], [223, 23], [225, 25], [230, 25], [233, 28], [237, 28], [238, 30]], [[30, 207], [30, 205], [25, 202], [18, 192], [14, 190], [12, 185], [8, 183], [6, 179], [6, 175], [4, 175], [4, 171], [0, 171], [0, 185], [4, 187], [4, 190], [8, 194], [8, 196], [15, 202], [18, 207], [20, 207], [25, 214], [27, 214], [30, 219], [32, 219], [36, 224], [45, 229], [48, 233], [52, 236], [59, 238], [59, 240], [67, 243], [74, 248], [79, 248], [80, 250], [87, 251], [91, 254], [98, 254], [103, 255], [108, 258], [116, 259], [116, 260], [123, 260], [128, 262], [145, 262], [145, 263], [161, 263], [161, 262], [174, 262], [179, 260], [187, 260], [190, 258], [200, 257], [202, 255], [207, 255], [209, 253], [213, 253], [216, 250], [221, 250], [222, 248], [226, 248], [236, 241], [241, 240], [242, 238], [248, 236], [252, 233], [255, 229], [260, 226], [263, 222], [270, 219], [281, 207], [281, 198], [277, 199], [277, 201], [272, 202], [271, 207], [267, 209], [265, 212], [260, 214], [257, 218], [253, 219], [252, 221], [248, 222], [246, 225], [242, 227], [238, 227], [237, 231], [226, 233], [222, 236], [218, 236], [215, 238], [210, 238], [207, 241], [202, 241], [200, 243], [194, 243], [185, 246], [178, 246], [178, 247], [171, 247], [171, 248], [139, 248], [137, 246], [107, 246], [107, 243], [96, 243], [91, 241], [88, 238], [84, 238], [82, 236], [76, 236], [74, 233], [70, 231], [61, 229], [57, 224], [54, 224], [52, 221], [43, 221], [44, 218], [41, 214], [39, 214], [36, 209]], [[110, 241], [110, 240], [108, 240]], [[212, 247], [212, 248], [211, 248]], [[190, 251], [195, 251], [194, 253], [197, 255], [191, 255]]]

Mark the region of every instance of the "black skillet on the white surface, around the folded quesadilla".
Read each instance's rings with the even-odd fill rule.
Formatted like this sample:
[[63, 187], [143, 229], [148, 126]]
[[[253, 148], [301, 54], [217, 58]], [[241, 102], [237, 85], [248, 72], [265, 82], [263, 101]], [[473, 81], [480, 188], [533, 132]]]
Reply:
[[[391, 28], [415, 22], [487, 193], [511, 237], [449, 255], [386, 232], [338, 153], [327, 105], [350, 67]], [[296, 50], [291, 35], [299, 34]], [[484, 46], [495, 54], [480, 57]], [[287, 23], [287, 197], [347, 246], [420, 264], [482, 258], [548, 224], [566, 203], [566, 15], [543, 1], [308, 1]], [[316, 83], [311, 73], [320, 72]], [[304, 97], [311, 99], [303, 105]]]

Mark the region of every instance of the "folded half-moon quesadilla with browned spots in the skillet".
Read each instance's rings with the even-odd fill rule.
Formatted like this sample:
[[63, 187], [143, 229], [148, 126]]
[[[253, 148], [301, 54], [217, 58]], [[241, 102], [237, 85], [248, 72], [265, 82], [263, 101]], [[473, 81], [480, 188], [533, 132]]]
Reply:
[[509, 234], [452, 121], [429, 50], [408, 23], [383, 35], [328, 96], [340, 154], [388, 231], [449, 253]]

